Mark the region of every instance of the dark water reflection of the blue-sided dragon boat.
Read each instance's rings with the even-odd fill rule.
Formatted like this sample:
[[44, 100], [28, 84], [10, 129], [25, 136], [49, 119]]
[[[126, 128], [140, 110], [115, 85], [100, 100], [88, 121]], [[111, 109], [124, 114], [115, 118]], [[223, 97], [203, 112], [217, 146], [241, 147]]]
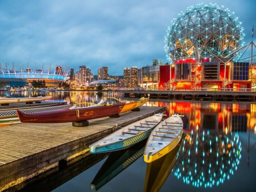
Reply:
[[91, 190], [99, 190], [143, 155], [146, 140], [132, 147], [110, 153], [91, 183]]

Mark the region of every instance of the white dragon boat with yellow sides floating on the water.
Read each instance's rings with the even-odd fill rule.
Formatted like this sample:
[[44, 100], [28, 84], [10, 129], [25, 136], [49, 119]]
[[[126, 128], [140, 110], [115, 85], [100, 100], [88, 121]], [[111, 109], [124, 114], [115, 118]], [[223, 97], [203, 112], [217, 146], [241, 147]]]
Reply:
[[178, 114], [159, 123], [151, 132], [144, 151], [144, 161], [150, 163], [172, 151], [183, 133], [183, 121]]

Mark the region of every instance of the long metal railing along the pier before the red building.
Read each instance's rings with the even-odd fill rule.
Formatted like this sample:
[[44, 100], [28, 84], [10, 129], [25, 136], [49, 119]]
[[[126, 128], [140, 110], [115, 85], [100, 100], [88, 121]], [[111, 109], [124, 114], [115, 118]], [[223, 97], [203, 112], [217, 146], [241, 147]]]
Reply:
[[125, 87], [120, 88], [124, 91], [243, 91], [256, 92], [252, 88], [143, 88], [143, 87]]

